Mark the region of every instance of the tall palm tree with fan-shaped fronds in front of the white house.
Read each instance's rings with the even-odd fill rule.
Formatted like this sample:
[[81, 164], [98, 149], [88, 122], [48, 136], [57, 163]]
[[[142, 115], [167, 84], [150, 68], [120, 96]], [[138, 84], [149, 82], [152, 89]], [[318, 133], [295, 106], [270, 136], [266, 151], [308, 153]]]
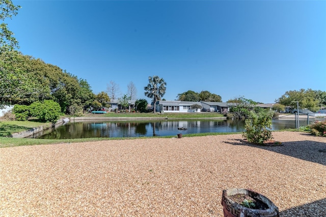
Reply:
[[167, 90], [167, 82], [163, 78], [158, 77], [157, 75], [148, 77], [149, 83], [144, 87], [145, 96], [153, 99], [154, 103], [154, 113], [156, 111], [156, 102], [165, 95]]

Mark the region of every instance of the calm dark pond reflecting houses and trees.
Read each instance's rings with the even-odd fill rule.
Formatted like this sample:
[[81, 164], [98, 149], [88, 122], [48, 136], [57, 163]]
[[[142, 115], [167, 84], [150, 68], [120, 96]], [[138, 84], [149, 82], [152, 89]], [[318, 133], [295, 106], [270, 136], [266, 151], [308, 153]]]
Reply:
[[[186, 130], [179, 130], [178, 128], [184, 128]], [[289, 128], [295, 128], [294, 120], [273, 120], [272, 130]], [[29, 138], [75, 139], [94, 137], [152, 137], [176, 136], [179, 133], [183, 135], [220, 132], [230, 133], [242, 132], [243, 130], [244, 121], [237, 119], [81, 121], [68, 122], [56, 129], [40, 132]]]

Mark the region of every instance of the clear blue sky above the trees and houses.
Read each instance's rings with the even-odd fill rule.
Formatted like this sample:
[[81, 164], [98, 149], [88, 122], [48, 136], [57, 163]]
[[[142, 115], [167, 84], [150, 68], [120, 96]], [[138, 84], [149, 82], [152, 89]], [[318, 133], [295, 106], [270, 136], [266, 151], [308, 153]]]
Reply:
[[114, 81], [137, 99], [148, 76], [163, 98], [208, 90], [223, 102], [273, 103], [287, 90], [326, 91], [326, 1], [13, 1], [6, 20], [25, 55], [95, 94]]

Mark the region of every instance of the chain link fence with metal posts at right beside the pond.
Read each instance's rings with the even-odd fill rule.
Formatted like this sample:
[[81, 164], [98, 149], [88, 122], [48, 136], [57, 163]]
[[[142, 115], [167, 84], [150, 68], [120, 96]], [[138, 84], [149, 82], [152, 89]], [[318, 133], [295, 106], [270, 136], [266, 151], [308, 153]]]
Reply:
[[325, 116], [313, 116], [313, 113], [279, 114], [272, 120], [272, 130], [299, 129], [313, 124], [315, 121], [325, 120]]

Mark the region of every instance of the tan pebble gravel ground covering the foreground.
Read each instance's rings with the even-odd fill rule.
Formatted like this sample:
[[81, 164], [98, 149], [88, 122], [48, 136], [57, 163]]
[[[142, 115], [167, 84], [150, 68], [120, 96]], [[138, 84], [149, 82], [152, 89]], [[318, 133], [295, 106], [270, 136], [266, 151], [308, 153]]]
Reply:
[[326, 216], [326, 138], [274, 132], [0, 148], [0, 216], [223, 216], [222, 190]]

